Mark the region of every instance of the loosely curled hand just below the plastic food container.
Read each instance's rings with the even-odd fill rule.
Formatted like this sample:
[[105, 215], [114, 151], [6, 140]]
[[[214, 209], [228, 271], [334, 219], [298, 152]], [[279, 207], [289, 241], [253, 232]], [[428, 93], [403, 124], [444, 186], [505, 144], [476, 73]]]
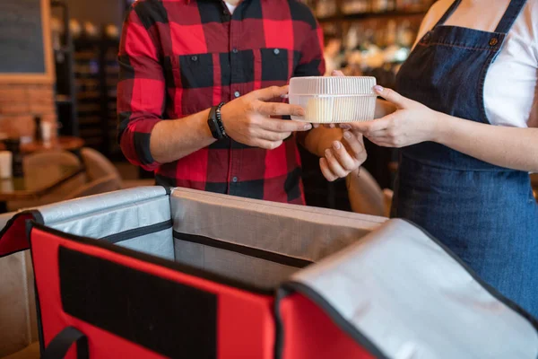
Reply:
[[361, 136], [344, 131], [343, 141], [334, 141], [332, 147], [325, 150], [325, 156], [319, 159], [325, 179], [333, 181], [350, 173], [359, 173], [360, 165], [367, 157], [361, 139]]

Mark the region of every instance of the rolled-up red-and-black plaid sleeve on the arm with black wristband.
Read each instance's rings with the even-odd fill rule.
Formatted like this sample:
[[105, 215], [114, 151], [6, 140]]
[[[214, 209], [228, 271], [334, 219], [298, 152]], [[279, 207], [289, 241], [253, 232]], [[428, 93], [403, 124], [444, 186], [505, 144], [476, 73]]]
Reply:
[[165, 82], [157, 42], [144, 6], [134, 4], [126, 15], [118, 54], [118, 142], [127, 160], [146, 171], [156, 170], [150, 151], [153, 127], [162, 120]]

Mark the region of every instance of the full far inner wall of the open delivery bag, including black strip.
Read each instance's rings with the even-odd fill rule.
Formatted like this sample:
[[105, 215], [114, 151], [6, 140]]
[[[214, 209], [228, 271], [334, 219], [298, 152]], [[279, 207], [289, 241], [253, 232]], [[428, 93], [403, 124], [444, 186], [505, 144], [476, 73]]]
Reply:
[[386, 221], [187, 188], [175, 189], [170, 205], [176, 261], [264, 288]]

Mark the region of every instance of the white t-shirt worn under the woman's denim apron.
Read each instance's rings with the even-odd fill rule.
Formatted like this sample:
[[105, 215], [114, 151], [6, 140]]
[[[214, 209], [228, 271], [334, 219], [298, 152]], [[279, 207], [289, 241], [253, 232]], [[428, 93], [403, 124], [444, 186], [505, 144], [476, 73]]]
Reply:
[[[418, 39], [435, 26], [453, 2], [438, 0], [431, 6]], [[495, 31], [509, 2], [463, 0], [445, 25]], [[493, 125], [538, 127], [538, 0], [527, 0], [491, 64], [484, 83], [484, 105]]]

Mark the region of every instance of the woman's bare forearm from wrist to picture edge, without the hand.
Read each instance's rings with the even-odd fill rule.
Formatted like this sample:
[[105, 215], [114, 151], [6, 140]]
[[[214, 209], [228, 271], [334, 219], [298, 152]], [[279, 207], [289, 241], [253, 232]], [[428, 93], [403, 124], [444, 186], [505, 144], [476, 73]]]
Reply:
[[500, 167], [538, 172], [538, 128], [490, 126], [436, 113], [435, 142]]

